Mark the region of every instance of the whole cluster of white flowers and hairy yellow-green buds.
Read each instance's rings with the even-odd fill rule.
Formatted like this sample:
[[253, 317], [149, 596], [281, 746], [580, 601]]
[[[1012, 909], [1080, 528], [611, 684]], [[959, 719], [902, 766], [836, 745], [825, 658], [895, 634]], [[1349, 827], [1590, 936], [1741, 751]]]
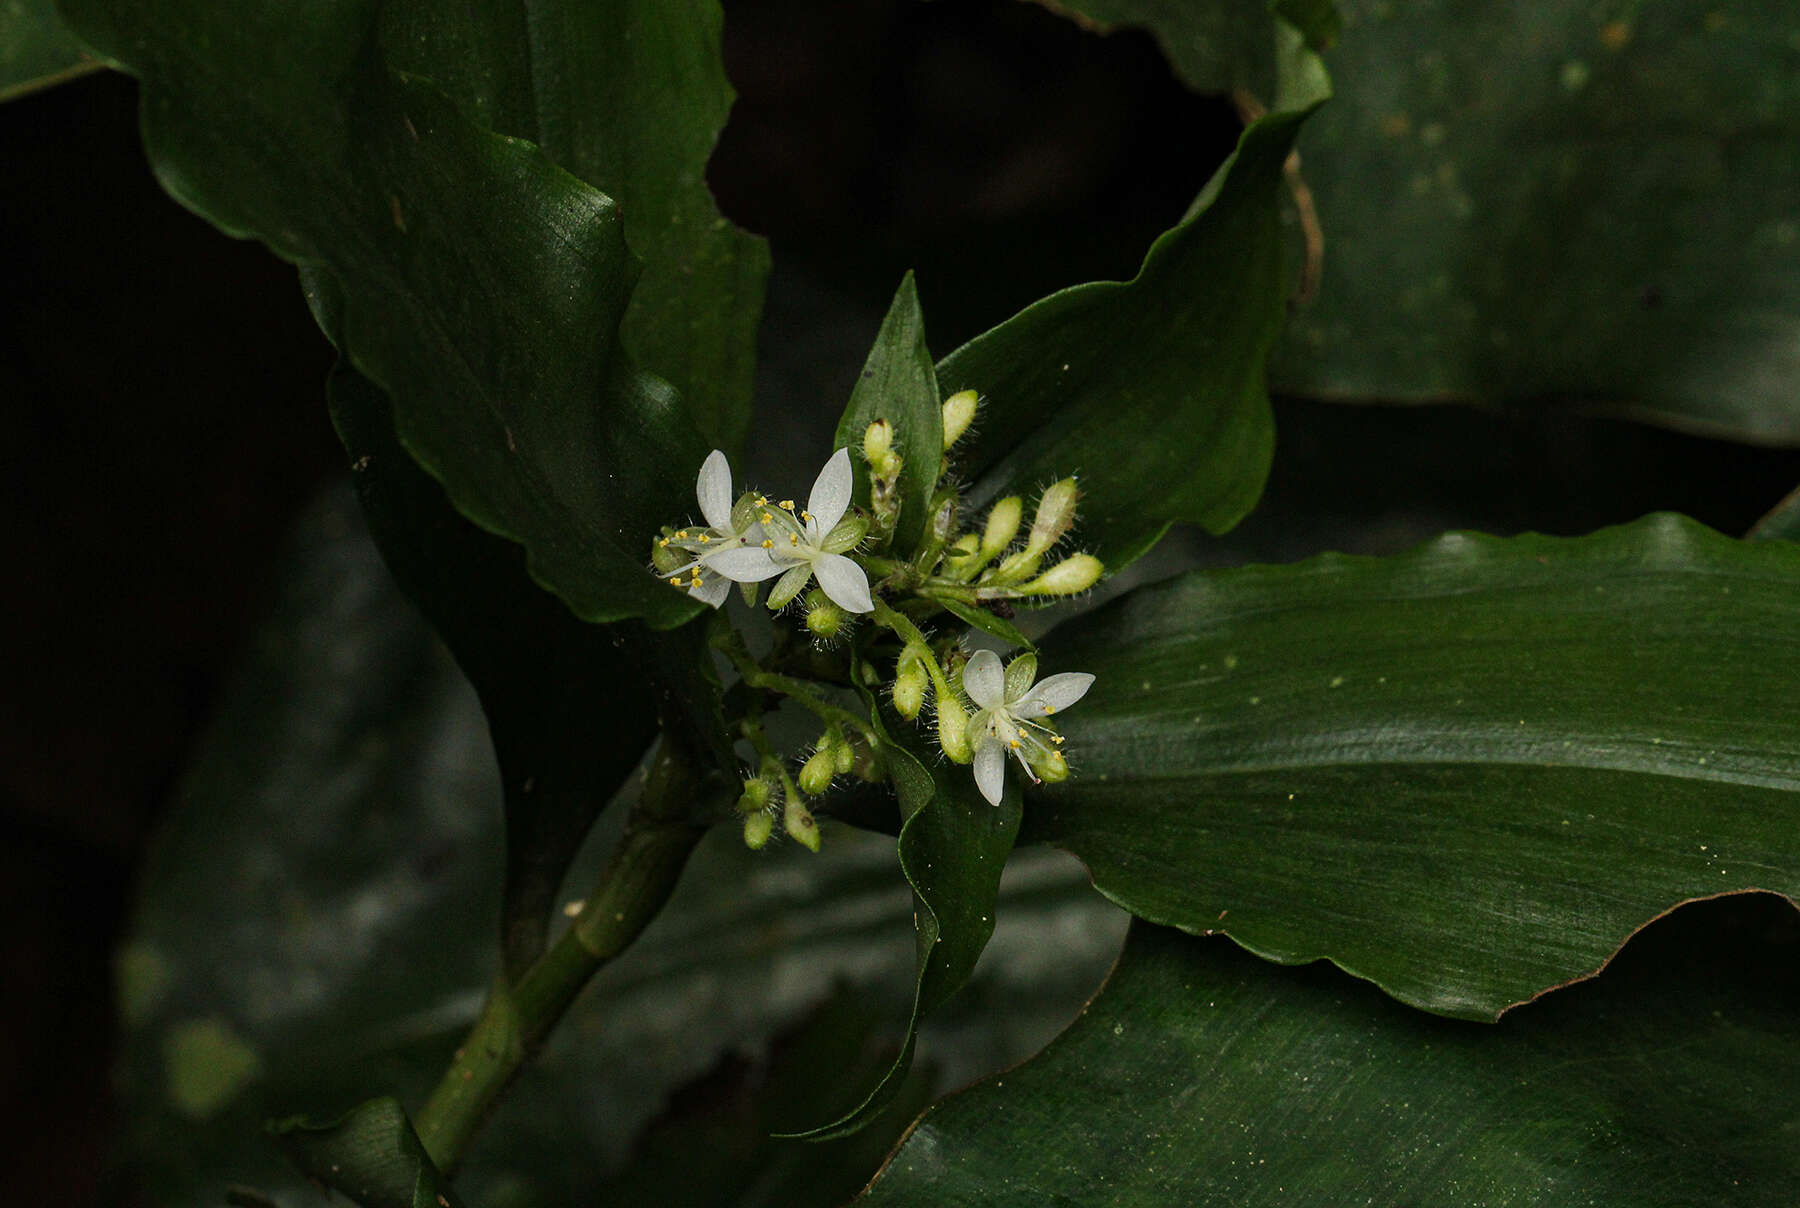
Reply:
[[[715, 646], [736, 664], [749, 690], [738, 729], [756, 749], [756, 771], [743, 783], [738, 810], [752, 848], [770, 839], [779, 816], [788, 835], [817, 850], [808, 798], [824, 794], [835, 776], [880, 778], [878, 727], [866, 709], [832, 699], [842, 695], [842, 684], [869, 682], [877, 666], [895, 668], [887, 684], [895, 713], [913, 720], [927, 700], [932, 704], [945, 758], [970, 763], [976, 787], [994, 805], [1004, 794], [1008, 756], [1031, 783], [1067, 780], [1062, 735], [1049, 718], [1080, 700], [1094, 677], [1064, 672], [1037, 681], [1035, 654], [1003, 666], [992, 650], [968, 654], [954, 628], [934, 636], [922, 628], [947, 612], [947, 619], [970, 619], [1026, 645], [1006, 619], [1015, 601], [1084, 592], [1105, 571], [1091, 553], [1055, 556], [1076, 522], [1080, 491], [1073, 477], [1044, 488], [1022, 538], [1026, 509], [1017, 495], [994, 502], [979, 529], [959, 531], [961, 495], [949, 473], [950, 450], [970, 428], [977, 403], [974, 391], [945, 400], [941, 448], [907, 448], [893, 423], [871, 423], [860, 448], [869, 502], [860, 509], [851, 506], [857, 472], [848, 448], [833, 452], [819, 470], [805, 508], [752, 490], [734, 493], [725, 454], [715, 450], [695, 482], [704, 524], [666, 527], [657, 536], [652, 563], [670, 585], [718, 609], [733, 583], [754, 603], [760, 585], [774, 580], [767, 607], [779, 610], [803, 599], [806, 630], [821, 643], [797, 652], [778, 627], [776, 648], [752, 657], [724, 618], [715, 625]], [[902, 542], [909, 457], [932, 459], [936, 486], [927, 497], [929, 524], [914, 522], [909, 531], [916, 536]], [[850, 616], [868, 618], [873, 627], [857, 630], [846, 645], [841, 639], [850, 634]], [[826, 722], [797, 778], [761, 724], [763, 708], [778, 700]]]

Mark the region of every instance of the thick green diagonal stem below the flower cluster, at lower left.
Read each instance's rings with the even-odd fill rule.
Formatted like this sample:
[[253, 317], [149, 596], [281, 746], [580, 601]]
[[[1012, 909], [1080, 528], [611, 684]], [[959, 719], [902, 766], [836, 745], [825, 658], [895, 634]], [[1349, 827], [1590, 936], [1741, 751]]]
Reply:
[[517, 985], [504, 979], [495, 985], [437, 1089], [414, 1116], [425, 1152], [439, 1170], [455, 1168], [488, 1113], [594, 972], [623, 952], [668, 902], [707, 830], [697, 798], [693, 765], [664, 740], [599, 888]]

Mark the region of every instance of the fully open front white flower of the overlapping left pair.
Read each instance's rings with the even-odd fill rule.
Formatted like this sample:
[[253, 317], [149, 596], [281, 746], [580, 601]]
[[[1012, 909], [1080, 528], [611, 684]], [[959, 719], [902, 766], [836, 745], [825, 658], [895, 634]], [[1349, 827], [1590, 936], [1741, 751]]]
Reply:
[[819, 470], [805, 511], [796, 513], [792, 499], [774, 506], [760, 500], [754, 518], [761, 524], [761, 542], [707, 554], [707, 569], [738, 583], [760, 583], [779, 574], [781, 581], [769, 592], [770, 609], [785, 605], [817, 576], [837, 607], [873, 612], [869, 576], [844, 556], [864, 533], [860, 520], [844, 518], [851, 481], [850, 450], [841, 448]]

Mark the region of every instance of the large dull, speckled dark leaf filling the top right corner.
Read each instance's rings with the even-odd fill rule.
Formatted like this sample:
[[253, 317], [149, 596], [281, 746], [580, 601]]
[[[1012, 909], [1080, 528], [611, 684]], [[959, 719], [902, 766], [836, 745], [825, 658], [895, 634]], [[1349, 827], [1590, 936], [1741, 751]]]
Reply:
[[1319, 299], [1274, 389], [1800, 443], [1786, 0], [1345, 4], [1305, 137]]

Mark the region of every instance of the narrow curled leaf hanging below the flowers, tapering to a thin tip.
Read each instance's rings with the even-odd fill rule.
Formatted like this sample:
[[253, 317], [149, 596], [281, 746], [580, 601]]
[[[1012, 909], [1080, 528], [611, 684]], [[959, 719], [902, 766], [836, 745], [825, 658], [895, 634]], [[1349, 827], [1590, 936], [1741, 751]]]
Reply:
[[981, 949], [994, 934], [1001, 870], [1019, 837], [1019, 796], [988, 805], [968, 769], [936, 760], [932, 771], [893, 738], [869, 686], [860, 686], [869, 720], [882, 738], [882, 758], [900, 798], [900, 870], [913, 886], [913, 933], [918, 985], [900, 1055], [855, 1109], [839, 1120], [797, 1132], [832, 1140], [868, 1127], [905, 1086], [920, 1021], [963, 988]]

